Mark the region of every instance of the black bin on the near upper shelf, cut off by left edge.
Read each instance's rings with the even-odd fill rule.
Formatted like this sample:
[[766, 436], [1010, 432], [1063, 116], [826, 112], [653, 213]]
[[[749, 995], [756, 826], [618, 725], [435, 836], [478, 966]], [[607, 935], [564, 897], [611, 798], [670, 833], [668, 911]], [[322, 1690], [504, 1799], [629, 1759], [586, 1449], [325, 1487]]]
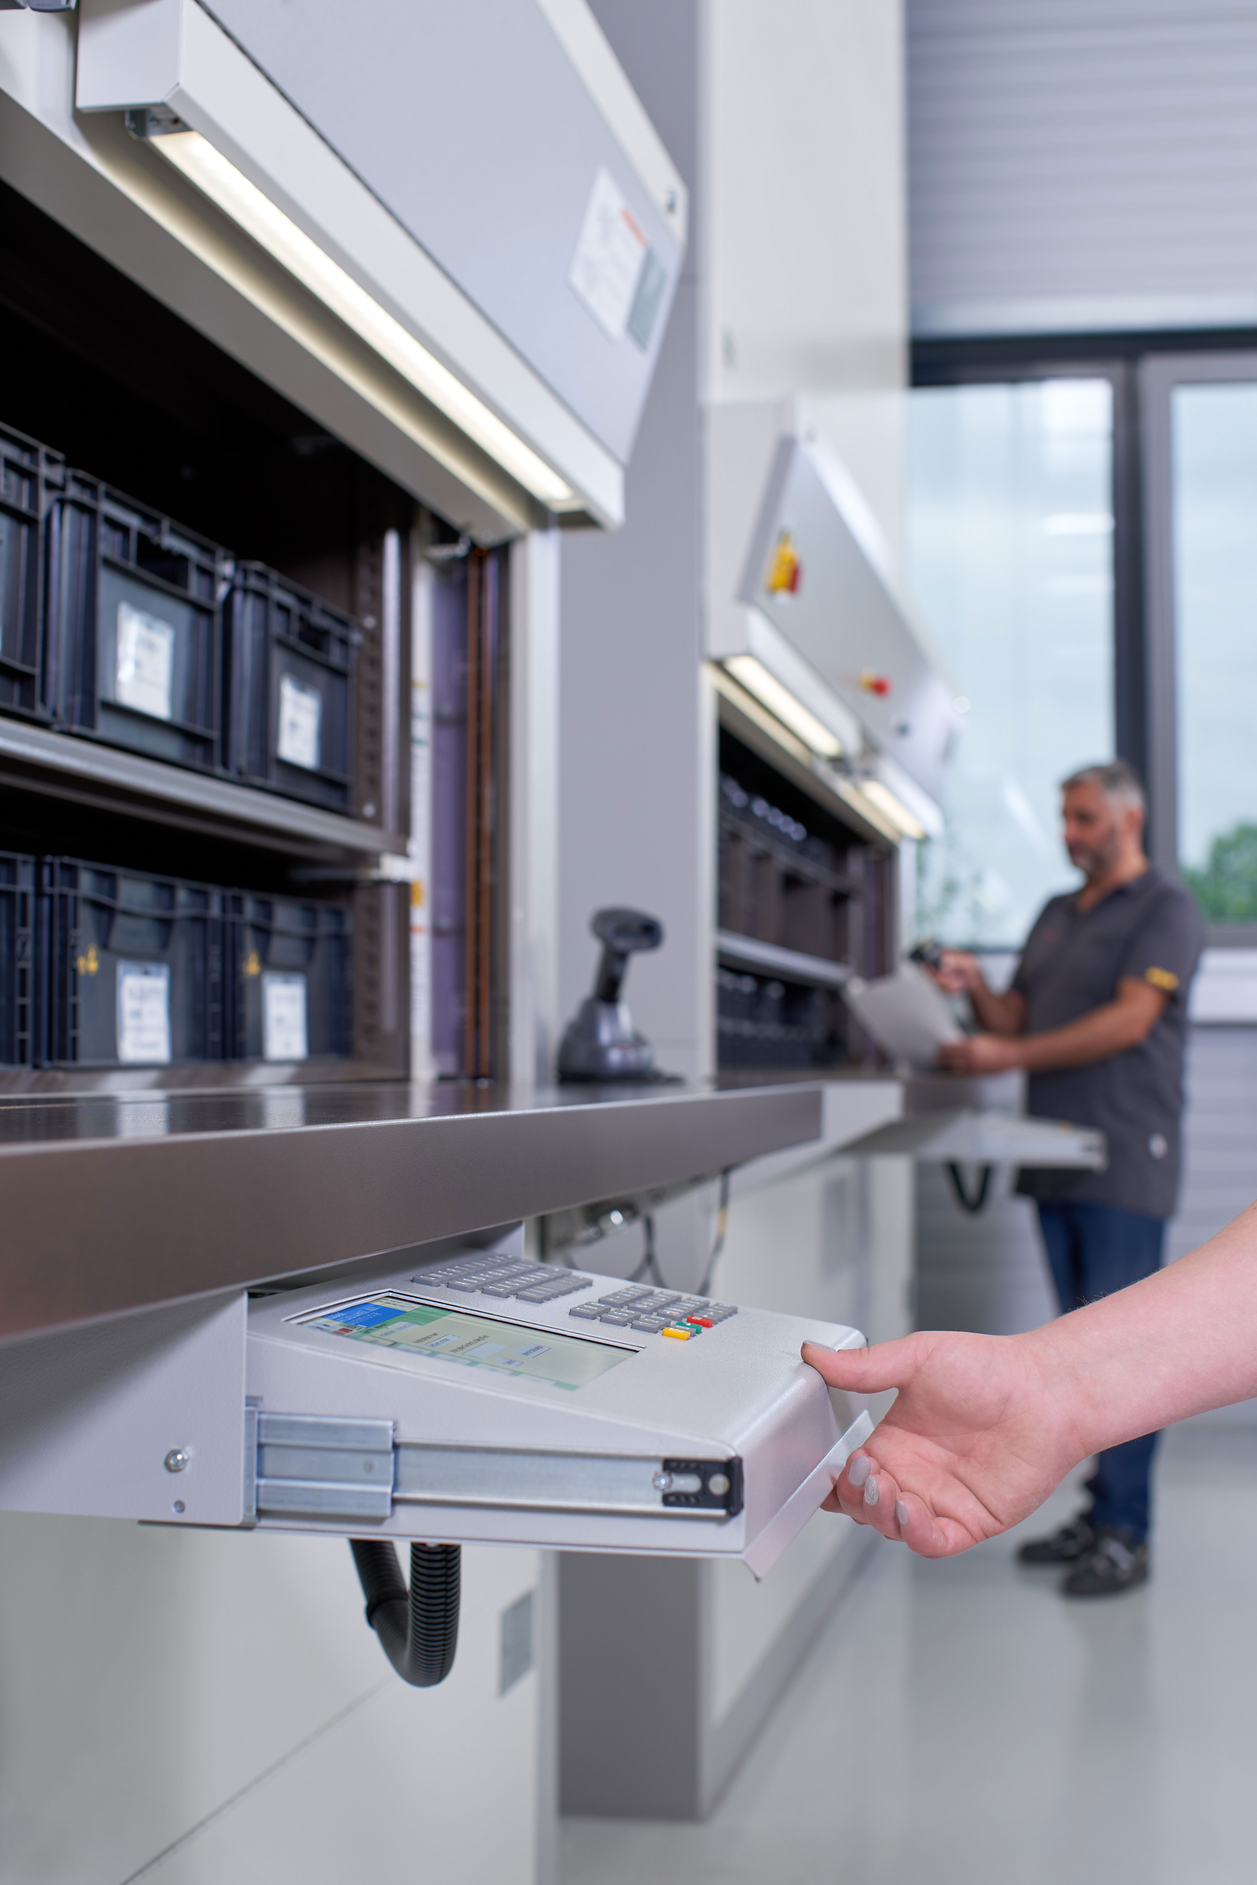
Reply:
[[43, 647], [43, 515], [64, 467], [23, 432], [0, 426], [0, 711], [47, 720]]

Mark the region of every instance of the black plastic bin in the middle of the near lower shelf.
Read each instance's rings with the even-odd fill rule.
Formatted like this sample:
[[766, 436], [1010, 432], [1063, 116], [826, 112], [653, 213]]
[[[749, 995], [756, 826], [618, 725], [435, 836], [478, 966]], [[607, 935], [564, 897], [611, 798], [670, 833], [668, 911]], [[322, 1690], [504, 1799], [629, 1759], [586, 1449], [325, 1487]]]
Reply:
[[222, 1059], [222, 892], [40, 860], [40, 1061]]

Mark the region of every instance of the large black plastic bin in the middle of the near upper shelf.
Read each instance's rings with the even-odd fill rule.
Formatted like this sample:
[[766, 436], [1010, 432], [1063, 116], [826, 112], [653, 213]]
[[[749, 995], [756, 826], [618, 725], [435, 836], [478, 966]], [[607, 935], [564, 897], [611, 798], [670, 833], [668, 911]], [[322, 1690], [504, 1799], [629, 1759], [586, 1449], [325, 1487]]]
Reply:
[[217, 767], [222, 550], [81, 471], [53, 494], [47, 532], [55, 720], [153, 760]]

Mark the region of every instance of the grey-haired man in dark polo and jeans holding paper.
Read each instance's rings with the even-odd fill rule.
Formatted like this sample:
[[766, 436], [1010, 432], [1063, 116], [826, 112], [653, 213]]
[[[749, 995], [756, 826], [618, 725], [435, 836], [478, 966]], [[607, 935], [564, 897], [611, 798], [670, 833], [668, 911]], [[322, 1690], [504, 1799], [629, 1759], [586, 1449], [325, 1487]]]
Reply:
[[[1184, 1110], [1187, 990], [1204, 941], [1200, 914], [1144, 856], [1144, 788], [1123, 762], [1087, 765], [1063, 786], [1065, 848], [1086, 877], [1052, 897], [1004, 995], [974, 956], [944, 950], [937, 973], [965, 992], [984, 1033], [940, 1050], [961, 1073], [1023, 1067], [1027, 1112], [1099, 1127], [1102, 1172], [1027, 1171], [1061, 1312], [1125, 1289], [1161, 1267], [1174, 1210]], [[1091, 1506], [1021, 1548], [1027, 1565], [1067, 1565], [1069, 1597], [1102, 1597], [1148, 1576], [1148, 1478], [1157, 1434], [1099, 1455]]]

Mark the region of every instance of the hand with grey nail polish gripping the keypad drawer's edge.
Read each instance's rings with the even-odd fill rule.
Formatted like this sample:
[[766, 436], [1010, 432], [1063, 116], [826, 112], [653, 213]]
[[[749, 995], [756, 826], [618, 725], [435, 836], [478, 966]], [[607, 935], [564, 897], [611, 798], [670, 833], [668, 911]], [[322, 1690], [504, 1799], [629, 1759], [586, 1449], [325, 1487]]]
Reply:
[[848, 1393], [899, 1389], [824, 1506], [922, 1557], [1016, 1525], [1086, 1457], [1033, 1336], [910, 1335], [837, 1353], [805, 1342], [803, 1359]]

